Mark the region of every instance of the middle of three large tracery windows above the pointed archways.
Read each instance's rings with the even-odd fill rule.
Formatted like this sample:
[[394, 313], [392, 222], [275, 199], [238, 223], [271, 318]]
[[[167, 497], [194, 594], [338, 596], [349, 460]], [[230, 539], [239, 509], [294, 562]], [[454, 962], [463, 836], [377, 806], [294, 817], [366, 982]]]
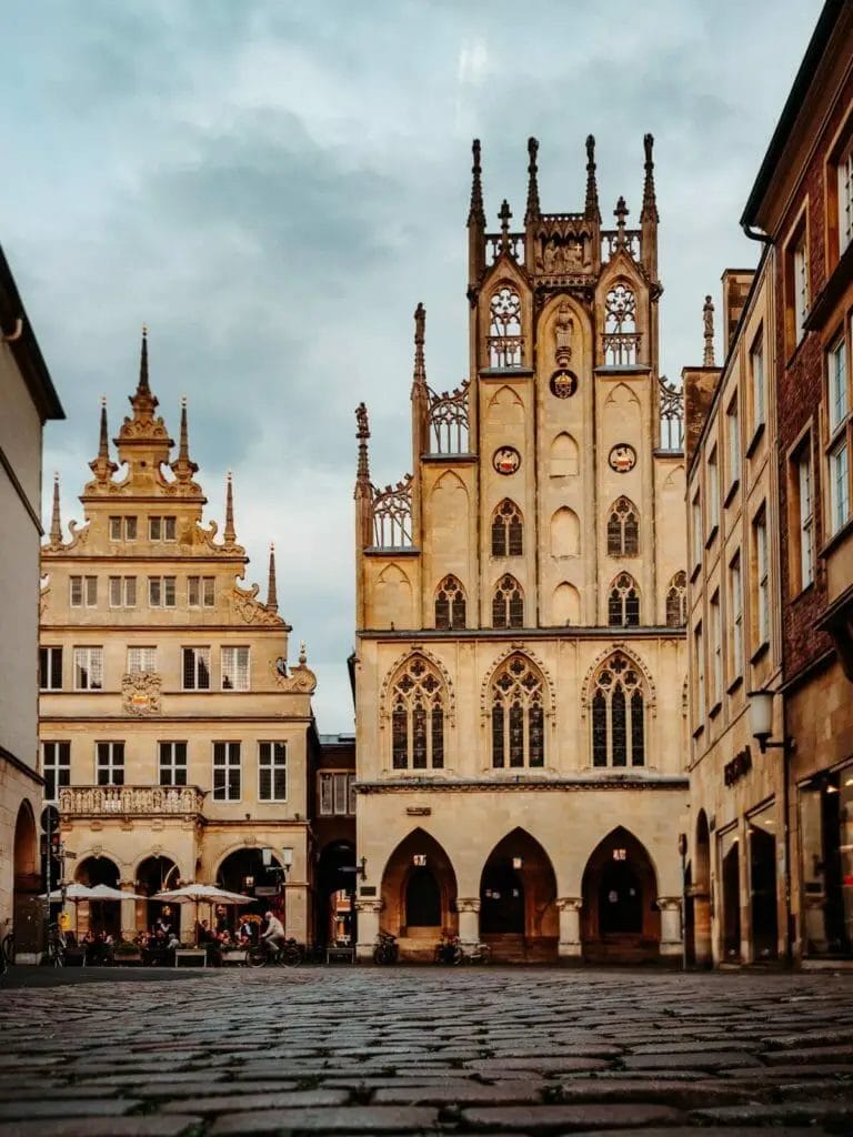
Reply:
[[510, 656], [491, 682], [491, 764], [545, 765], [544, 681], [523, 655]]

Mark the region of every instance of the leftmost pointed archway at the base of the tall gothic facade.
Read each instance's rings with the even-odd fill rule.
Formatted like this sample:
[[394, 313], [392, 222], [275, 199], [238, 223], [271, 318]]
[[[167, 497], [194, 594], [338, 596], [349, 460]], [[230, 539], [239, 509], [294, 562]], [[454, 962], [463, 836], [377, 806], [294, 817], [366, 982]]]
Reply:
[[455, 935], [456, 873], [439, 843], [423, 829], [408, 835], [382, 874], [381, 927], [408, 958], [432, 958], [442, 933]]

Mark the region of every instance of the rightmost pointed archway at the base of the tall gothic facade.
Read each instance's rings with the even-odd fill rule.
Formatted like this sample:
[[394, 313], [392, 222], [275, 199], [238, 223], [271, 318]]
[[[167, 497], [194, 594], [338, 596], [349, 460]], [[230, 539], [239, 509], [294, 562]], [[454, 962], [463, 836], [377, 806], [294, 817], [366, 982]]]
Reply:
[[583, 871], [581, 938], [591, 963], [657, 958], [657, 881], [641, 841], [621, 825], [594, 850]]

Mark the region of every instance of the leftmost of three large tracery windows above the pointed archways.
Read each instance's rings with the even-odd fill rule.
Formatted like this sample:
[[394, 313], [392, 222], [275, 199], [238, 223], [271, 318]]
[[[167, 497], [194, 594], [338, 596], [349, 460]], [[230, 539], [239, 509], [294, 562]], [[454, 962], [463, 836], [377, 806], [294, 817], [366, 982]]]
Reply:
[[391, 690], [391, 765], [441, 770], [445, 764], [445, 690], [421, 656], [409, 659]]

